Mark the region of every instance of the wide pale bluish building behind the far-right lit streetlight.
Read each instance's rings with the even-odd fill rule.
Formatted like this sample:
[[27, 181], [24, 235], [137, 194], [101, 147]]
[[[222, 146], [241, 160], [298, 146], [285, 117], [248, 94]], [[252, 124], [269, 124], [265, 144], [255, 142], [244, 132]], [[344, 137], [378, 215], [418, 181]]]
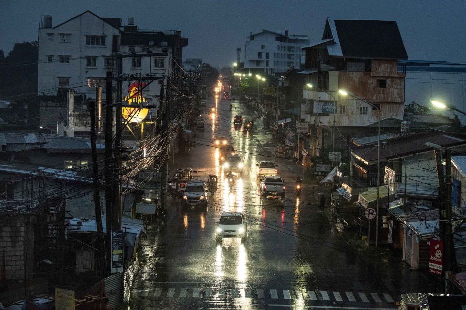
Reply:
[[[436, 99], [466, 112], [466, 64], [427, 60], [400, 60], [398, 63], [406, 67], [406, 103], [415, 101], [435, 109], [430, 101]], [[449, 111], [444, 113], [451, 116]], [[461, 123], [466, 124], [466, 116], [456, 114]]]

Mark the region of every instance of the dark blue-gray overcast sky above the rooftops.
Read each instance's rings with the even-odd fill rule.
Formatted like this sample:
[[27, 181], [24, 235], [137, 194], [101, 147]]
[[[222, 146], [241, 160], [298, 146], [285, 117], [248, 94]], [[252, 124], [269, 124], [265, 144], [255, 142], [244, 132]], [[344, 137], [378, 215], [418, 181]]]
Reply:
[[216, 67], [236, 60], [250, 32], [289, 30], [320, 40], [325, 19], [377, 19], [398, 23], [408, 57], [466, 63], [466, 1], [105, 1], [4, 0], [0, 6], [0, 49], [37, 40], [41, 15], [53, 25], [86, 10], [101, 17], [135, 17], [143, 29], [181, 30], [188, 38], [184, 58]]

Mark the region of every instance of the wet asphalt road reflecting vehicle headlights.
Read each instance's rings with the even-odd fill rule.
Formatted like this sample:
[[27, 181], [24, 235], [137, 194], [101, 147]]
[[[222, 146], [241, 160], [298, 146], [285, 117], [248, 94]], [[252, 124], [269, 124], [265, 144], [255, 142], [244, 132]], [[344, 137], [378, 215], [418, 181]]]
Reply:
[[[142, 240], [141, 270], [131, 292], [130, 307], [139, 308], [395, 308], [401, 291], [417, 291], [419, 278], [409, 277], [401, 261], [373, 262], [344, 238], [342, 228], [321, 211], [304, 184], [295, 197], [294, 180], [301, 168], [274, 157], [275, 143], [262, 120], [252, 132], [235, 131], [235, 114], [251, 112], [229, 101], [207, 100], [215, 114], [203, 113], [205, 130], [196, 132], [190, 156], [170, 161], [170, 170], [191, 167], [195, 179], [224, 172], [213, 147], [215, 136], [226, 136], [245, 162], [244, 174], [232, 191], [219, 182], [209, 193], [207, 210], [186, 210], [171, 200], [166, 225], [155, 226]], [[262, 199], [256, 162], [275, 161], [287, 186], [281, 202]], [[248, 238], [215, 242], [222, 212], [243, 212]], [[380, 260], [380, 259], [379, 259]]]

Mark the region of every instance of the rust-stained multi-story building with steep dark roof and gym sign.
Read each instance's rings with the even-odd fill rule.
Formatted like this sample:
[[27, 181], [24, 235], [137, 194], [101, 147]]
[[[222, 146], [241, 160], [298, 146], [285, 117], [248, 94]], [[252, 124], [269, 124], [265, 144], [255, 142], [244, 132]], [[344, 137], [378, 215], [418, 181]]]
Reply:
[[376, 132], [378, 109], [382, 127], [383, 120], [403, 120], [405, 66], [398, 60], [408, 56], [396, 22], [327, 19], [322, 40], [303, 50], [301, 120], [309, 122], [313, 153], [332, 146], [333, 125], [335, 150], [347, 150], [347, 138]]

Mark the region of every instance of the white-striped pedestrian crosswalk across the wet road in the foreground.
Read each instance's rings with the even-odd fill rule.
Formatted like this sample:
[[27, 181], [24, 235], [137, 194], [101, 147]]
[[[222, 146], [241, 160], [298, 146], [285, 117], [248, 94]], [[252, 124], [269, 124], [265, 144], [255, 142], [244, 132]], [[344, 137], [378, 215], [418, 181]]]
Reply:
[[173, 288], [154, 287], [149, 289], [136, 289], [134, 295], [152, 298], [254, 298], [254, 299], [284, 299], [309, 300], [333, 302], [369, 302], [369, 303], [395, 303], [388, 293], [374, 292], [339, 292], [325, 290], [292, 290], [292, 289], [264, 289], [264, 288]]

